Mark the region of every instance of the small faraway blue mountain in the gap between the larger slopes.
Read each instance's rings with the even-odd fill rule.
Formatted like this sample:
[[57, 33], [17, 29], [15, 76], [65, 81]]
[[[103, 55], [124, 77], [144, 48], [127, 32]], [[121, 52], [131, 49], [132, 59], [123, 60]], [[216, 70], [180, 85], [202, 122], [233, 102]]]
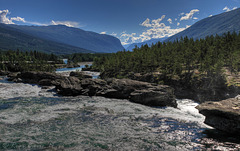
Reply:
[[151, 39], [151, 40], [147, 40], [147, 41], [144, 41], [144, 42], [140, 42], [140, 43], [133, 43], [133, 44], [130, 44], [130, 45], [126, 45], [125, 49], [126, 50], [133, 50], [135, 48], [135, 46], [137, 47], [141, 47], [142, 45], [148, 45], [148, 46], [151, 46], [152, 44], [156, 44], [157, 42], [163, 42], [164, 40], [166, 40], [167, 37], [164, 37], [164, 38], [156, 38], [156, 39]]

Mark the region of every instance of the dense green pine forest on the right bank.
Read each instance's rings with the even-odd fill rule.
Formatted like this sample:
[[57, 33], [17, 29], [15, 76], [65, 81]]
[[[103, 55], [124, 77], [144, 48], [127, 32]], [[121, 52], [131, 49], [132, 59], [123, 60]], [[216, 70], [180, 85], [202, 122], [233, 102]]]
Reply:
[[93, 68], [101, 77], [124, 78], [132, 72], [159, 72], [165, 78], [190, 77], [194, 71], [210, 76], [221, 74], [223, 67], [240, 70], [240, 33], [225, 33], [194, 40], [184, 37], [174, 42], [158, 42], [96, 58]]

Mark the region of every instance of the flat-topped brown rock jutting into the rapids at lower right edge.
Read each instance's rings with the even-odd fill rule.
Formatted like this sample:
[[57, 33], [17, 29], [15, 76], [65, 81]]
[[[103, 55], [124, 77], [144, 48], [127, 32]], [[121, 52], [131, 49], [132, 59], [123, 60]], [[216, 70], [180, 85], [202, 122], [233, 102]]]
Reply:
[[240, 96], [220, 102], [205, 102], [198, 105], [197, 109], [206, 116], [204, 123], [240, 135]]

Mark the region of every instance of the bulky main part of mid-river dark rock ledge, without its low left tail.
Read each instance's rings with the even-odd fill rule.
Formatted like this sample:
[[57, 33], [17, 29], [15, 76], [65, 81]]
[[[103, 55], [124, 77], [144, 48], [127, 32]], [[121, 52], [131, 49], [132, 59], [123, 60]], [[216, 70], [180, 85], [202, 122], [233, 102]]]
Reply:
[[[75, 77], [69, 77], [75, 78]], [[130, 79], [74, 79], [62, 80], [56, 88], [62, 95], [104, 96], [107, 98], [129, 99], [148, 106], [177, 107], [173, 89], [169, 86], [153, 85]]]

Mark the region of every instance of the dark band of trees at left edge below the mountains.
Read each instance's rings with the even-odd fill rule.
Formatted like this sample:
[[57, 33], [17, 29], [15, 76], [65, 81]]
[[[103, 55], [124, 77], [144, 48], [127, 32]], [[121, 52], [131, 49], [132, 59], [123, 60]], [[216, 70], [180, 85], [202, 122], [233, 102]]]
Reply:
[[62, 63], [58, 56], [38, 51], [0, 51], [0, 70], [55, 71], [55, 64]]

